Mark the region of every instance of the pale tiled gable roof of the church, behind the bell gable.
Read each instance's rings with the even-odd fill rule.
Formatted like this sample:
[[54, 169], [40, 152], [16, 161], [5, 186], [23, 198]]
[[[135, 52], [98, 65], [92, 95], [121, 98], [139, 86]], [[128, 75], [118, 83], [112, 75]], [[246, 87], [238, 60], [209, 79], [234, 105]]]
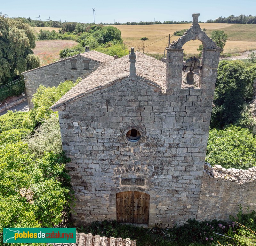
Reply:
[[[152, 81], [156, 87], [165, 87], [166, 80], [166, 63], [156, 60], [155, 58], [149, 57], [140, 52], [136, 52], [136, 73], [138, 76]], [[96, 89], [104, 86], [108, 86], [111, 83], [128, 77], [130, 74], [130, 62], [128, 55], [118, 58], [111, 63], [99, 68], [98, 70], [92, 72], [86, 78], [84, 78], [75, 87], [69, 90], [64, 96], [60, 98], [55, 104], [51, 106], [51, 109], [56, 109], [59, 106], [68, 103], [70, 101], [76, 100], [77, 98], [84, 96]], [[182, 74], [182, 77], [186, 76], [186, 72]], [[198, 75], [195, 74], [194, 78], [198, 81]], [[198, 82], [197, 82], [198, 83]], [[182, 85], [184, 87], [194, 87], [189, 85]]]

